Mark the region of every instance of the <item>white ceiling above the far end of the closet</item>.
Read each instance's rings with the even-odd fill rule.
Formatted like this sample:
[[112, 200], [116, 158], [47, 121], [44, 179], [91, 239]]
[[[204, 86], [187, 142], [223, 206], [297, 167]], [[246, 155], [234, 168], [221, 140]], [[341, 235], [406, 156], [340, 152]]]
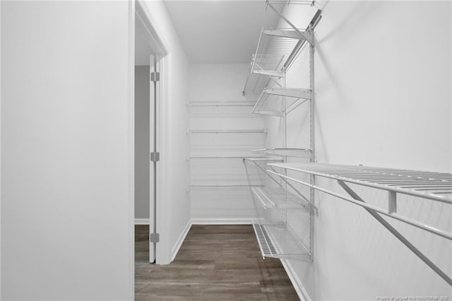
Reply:
[[261, 28], [274, 28], [279, 20], [275, 12], [265, 11], [263, 0], [164, 3], [186, 56], [194, 64], [249, 63]]

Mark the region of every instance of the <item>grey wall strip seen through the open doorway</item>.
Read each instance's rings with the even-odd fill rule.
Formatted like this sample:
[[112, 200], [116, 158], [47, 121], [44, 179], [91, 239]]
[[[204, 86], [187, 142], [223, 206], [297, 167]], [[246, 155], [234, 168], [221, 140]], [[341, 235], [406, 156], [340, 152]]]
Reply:
[[135, 66], [135, 218], [149, 218], [149, 66]]

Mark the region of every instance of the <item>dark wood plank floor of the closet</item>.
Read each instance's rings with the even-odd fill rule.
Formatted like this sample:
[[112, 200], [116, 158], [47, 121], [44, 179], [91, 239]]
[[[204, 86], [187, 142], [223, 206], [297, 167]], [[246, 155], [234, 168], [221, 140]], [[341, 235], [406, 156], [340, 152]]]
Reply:
[[262, 259], [251, 225], [193, 225], [176, 259], [148, 264], [136, 225], [135, 300], [299, 300], [278, 259]]

